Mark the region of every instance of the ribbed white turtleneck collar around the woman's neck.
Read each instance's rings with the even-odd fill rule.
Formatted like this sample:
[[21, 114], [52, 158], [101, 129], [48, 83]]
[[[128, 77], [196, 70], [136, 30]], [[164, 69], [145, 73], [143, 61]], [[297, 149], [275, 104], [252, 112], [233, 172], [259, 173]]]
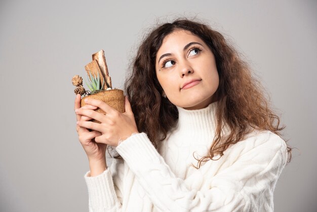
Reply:
[[216, 104], [212, 102], [206, 108], [186, 110], [177, 107], [178, 124], [176, 130], [188, 136], [213, 138], [216, 131]]

